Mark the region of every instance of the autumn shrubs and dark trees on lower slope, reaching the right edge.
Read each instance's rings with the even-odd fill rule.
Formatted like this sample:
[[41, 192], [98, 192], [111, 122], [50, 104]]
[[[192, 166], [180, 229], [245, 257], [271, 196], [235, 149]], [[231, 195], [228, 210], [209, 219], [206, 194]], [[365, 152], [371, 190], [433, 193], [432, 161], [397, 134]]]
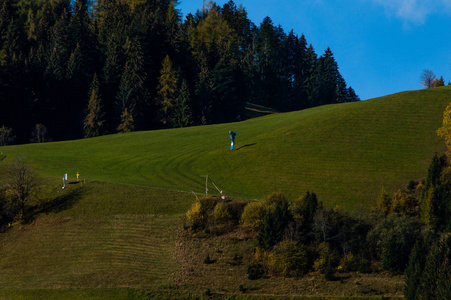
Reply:
[[[255, 238], [250, 279], [386, 270], [406, 274], [407, 299], [451, 299], [451, 166], [435, 155], [427, 178], [391, 197], [383, 188], [367, 218], [328, 209], [315, 193], [288, 201], [203, 198], [187, 213], [193, 234], [236, 229]], [[412, 253], [412, 254], [411, 254]]]

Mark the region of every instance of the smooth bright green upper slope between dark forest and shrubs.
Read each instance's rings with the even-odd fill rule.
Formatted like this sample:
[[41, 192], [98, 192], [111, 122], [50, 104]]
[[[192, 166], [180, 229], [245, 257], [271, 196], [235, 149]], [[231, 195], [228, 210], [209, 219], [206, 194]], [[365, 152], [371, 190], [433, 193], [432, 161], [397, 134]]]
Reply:
[[[25, 153], [42, 173], [203, 192], [208, 174], [228, 195], [291, 199], [312, 190], [329, 205], [374, 204], [425, 177], [449, 87], [403, 92], [359, 103], [273, 114], [240, 123], [134, 132], [93, 139], [4, 147], [6, 161]], [[237, 151], [228, 131], [238, 132]], [[210, 185], [210, 191], [214, 188]]]

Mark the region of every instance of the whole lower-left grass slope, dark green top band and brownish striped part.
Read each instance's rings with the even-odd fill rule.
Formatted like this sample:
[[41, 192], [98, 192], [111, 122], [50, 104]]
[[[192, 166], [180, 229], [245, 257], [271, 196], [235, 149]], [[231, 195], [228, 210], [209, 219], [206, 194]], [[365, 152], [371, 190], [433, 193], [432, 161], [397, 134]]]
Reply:
[[194, 195], [99, 182], [44, 189], [51, 197], [0, 237], [0, 288], [102, 288], [109, 298], [103, 288], [172, 285], [176, 233]]

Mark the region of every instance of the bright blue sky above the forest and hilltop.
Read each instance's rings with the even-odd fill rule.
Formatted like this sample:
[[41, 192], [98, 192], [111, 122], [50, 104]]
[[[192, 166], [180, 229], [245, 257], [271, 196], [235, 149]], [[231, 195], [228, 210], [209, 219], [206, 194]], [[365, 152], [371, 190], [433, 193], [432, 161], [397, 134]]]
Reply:
[[[208, 2], [208, 0], [206, 0]], [[215, 1], [223, 5], [228, 0]], [[319, 55], [329, 46], [362, 100], [423, 88], [423, 69], [451, 81], [451, 0], [235, 0], [256, 25], [269, 16], [304, 34]], [[179, 0], [183, 16], [202, 0]]]

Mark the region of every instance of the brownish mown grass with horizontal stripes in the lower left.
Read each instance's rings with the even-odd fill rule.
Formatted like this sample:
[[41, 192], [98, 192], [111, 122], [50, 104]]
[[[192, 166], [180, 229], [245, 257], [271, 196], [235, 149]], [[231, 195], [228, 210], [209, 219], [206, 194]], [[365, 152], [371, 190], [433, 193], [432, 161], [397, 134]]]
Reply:
[[178, 228], [176, 216], [39, 218], [2, 236], [0, 288], [170, 284]]

